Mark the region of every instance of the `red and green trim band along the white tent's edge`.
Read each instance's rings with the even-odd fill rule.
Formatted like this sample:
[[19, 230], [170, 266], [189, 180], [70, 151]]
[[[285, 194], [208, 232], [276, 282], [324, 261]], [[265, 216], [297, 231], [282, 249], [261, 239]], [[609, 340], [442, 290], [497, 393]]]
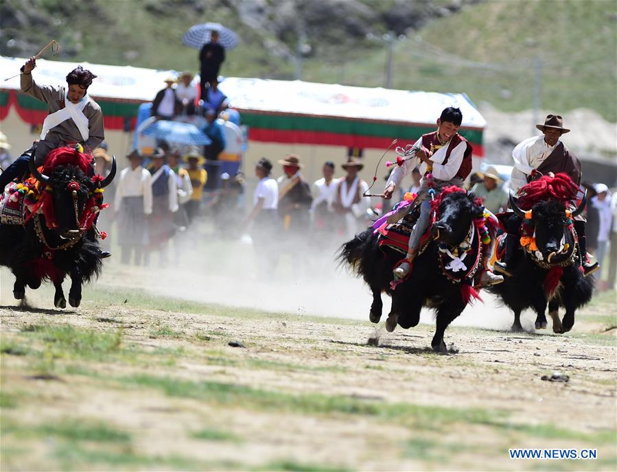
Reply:
[[[94, 98], [103, 111], [106, 129], [135, 129], [137, 109], [143, 101]], [[12, 106], [23, 121], [32, 125], [43, 123], [47, 116], [47, 106], [43, 102], [14, 90], [0, 90], [0, 119], [6, 118]], [[385, 149], [395, 138], [398, 139], [397, 145], [405, 145], [414, 143], [424, 133], [434, 131], [434, 125], [426, 123], [239, 111], [242, 123], [248, 126], [248, 139], [269, 143]], [[461, 128], [460, 132], [474, 146], [474, 154], [483, 156], [482, 129]]]

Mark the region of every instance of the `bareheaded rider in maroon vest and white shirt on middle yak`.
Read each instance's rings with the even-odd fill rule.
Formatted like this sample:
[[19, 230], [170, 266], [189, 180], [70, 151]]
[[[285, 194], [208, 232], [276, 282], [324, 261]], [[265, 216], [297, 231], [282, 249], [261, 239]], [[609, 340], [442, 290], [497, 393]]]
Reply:
[[[463, 181], [472, 170], [472, 145], [458, 134], [462, 121], [463, 114], [459, 108], [445, 108], [437, 120], [437, 130], [423, 134], [416, 141], [414, 147], [419, 150], [415, 152], [415, 156], [395, 167], [386, 183], [384, 198], [390, 199], [404, 176], [420, 164], [420, 172], [424, 176], [417, 192], [417, 200], [421, 202], [420, 216], [409, 237], [407, 255], [394, 270], [395, 279], [406, 278], [412, 270], [420, 239], [430, 223], [430, 190], [439, 192], [451, 185], [462, 189]], [[485, 246], [490, 248], [490, 245]], [[485, 264], [487, 259], [488, 257], [485, 257]], [[493, 274], [485, 265], [480, 281], [482, 285], [496, 285], [503, 280], [502, 276]]]

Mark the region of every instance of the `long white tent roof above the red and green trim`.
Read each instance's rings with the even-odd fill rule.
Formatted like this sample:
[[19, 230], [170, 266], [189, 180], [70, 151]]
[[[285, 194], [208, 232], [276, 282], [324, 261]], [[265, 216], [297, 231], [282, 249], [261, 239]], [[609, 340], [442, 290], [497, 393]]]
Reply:
[[[19, 73], [25, 58], [0, 56], [0, 70], [6, 76]], [[82, 65], [97, 75], [89, 93], [95, 97], [150, 101], [165, 86], [163, 80], [174, 71], [131, 66], [109, 66], [89, 62], [60, 62], [39, 59], [34, 77], [39, 84], [62, 84], [71, 69]], [[19, 77], [2, 82], [0, 88], [19, 89]], [[482, 129], [486, 121], [468, 97], [460, 93], [368, 88], [320, 84], [300, 80], [262, 80], [229, 77], [220, 85], [231, 104], [241, 110], [264, 113], [307, 115], [392, 121], [433, 125], [441, 110], [457, 106], [463, 112], [463, 126]]]

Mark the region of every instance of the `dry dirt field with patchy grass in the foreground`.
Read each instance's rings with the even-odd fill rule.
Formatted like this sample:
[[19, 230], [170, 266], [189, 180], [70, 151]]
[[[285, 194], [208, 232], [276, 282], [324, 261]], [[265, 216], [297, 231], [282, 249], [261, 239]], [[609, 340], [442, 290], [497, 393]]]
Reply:
[[[615, 292], [566, 335], [275, 314], [100, 284], [16, 306], [3, 272], [2, 471], [606, 470]], [[12, 285], [12, 283], [11, 283]], [[369, 342], [369, 339], [371, 340]], [[376, 344], [376, 345], [375, 345]], [[544, 381], [555, 372], [569, 381]], [[511, 460], [509, 449], [597, 449]]]

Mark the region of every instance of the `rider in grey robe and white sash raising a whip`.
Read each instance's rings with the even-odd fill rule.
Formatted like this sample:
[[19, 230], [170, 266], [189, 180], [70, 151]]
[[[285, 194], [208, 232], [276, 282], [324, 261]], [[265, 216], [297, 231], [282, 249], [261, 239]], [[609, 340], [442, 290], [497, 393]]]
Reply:
[[87, 95], [96, 75], [81, 66], [67, 75], [67, 87], [38, 85], [32, 79], [36, 67], [33, 56], [21, 67], [21, 91], [45, 102], [49, 115], [43, 121], [40, 141], [8, 166], [0, 174], [0, 191], [13, 179], [28, 172], [30, 158], [36, 167], [45, 163], [51, 150], [66, 144], [81, 143], [84, 149], [94, 150], [104, 139], [101, 107]]

